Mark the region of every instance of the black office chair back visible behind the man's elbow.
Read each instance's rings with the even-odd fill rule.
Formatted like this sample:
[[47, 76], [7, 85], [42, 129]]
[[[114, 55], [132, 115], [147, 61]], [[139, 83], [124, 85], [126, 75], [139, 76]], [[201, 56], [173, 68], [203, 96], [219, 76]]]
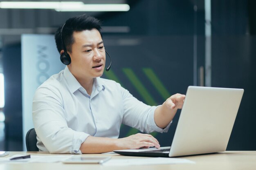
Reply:
[[36, 142], [36, 130], [35, 128], [32, 128], [29, 131], [27, 131], [26, 135], [27, 151], [39, 151], [39, 149], [36, 146]]

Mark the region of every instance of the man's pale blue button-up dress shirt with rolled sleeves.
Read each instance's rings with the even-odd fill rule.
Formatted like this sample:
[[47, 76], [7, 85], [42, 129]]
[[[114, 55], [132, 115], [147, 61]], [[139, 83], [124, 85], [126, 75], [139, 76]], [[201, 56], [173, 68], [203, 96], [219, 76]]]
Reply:
[[156, 106], [148, 106], [115, 81], [94, 78], [91, 95], [67, 66], [38, 87], [33, 99], [33, 123], [40, 151], [77, 153], [88, 136], [118, 138], [121, 124], [142, 132], [167, 132], [154, 121]]

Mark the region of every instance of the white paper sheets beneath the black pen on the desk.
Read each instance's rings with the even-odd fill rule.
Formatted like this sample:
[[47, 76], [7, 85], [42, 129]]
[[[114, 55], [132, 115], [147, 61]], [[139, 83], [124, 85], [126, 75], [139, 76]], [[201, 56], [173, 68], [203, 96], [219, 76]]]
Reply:
[[27, 162], [27, 163], [54, 163], [54, 162], [61, 162], [65, 159], [68, 159], [70, 157], [73, 157], [73, 155], [68, 156], [37, 156], [37, 155], [31, 155], [30, 158], [27, 159], [17, 159], [17, 160], [10, 160], [11, 158], [15, 157], [21, 157], [26, 155], [13, 155], [12, 157], [0, 159], [0, 162], [7, 162], [7, 163], [21, 163], [21, 162]]

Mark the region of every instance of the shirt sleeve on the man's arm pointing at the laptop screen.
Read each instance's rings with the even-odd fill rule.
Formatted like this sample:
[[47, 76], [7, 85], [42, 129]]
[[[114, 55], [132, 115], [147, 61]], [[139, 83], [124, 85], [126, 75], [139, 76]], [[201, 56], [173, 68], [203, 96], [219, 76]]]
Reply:
[[121, 94], [124, 104], [124, 118], [123, 124], [137, 128], [141, 132], [167, 132], [170, 128], [171, 122], [166, 128], [159, 128], [155, 124], [154, 113], [157, 106], [148, 106], [138, 99], [133, 97], [129, 91], [121, 88]]

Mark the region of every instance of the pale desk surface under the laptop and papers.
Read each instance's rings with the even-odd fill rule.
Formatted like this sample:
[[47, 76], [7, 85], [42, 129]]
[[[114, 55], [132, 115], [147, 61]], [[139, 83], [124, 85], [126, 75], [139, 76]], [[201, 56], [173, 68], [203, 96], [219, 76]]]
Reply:
[[[46, 152], [10, 152], [9, 156], [51, 155]], [[6, 157], [9, 157], [6, 156]], [[53, 156], [53, 155], [51, 155]], [[76, 156], [76, 155], [75, 155]], [[81, 155], [78, 155], [81, 156]], [[104, 154], [83, 154], [87, 156], [106, 156]], [[107, 155], [109, 156], [109, 155]], [[133, 159], [145, 157], [126, 157], [112, 154], [112, 159]], [[256, 151], [226, 151], [209, 155], [196, 155], [186, 158], [196, 164], [148, 165], [148, 166], [103, 166], [98, 164], [58, 163], [2, 163], [0, 170], [256, 170]]]

